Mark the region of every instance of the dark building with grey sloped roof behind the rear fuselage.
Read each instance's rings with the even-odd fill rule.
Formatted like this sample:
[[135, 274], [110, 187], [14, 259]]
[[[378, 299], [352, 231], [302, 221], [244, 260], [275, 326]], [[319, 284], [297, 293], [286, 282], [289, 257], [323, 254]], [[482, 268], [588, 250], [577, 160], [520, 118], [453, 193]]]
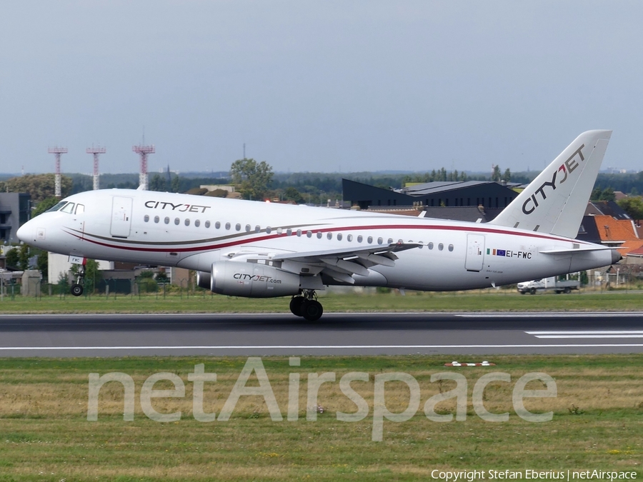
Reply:
[[516, 199], [521, 188], [521, 184], [495, 181], [435, 181], [403, 189], [382, 189], [342, 179], [344, 200], [360, 209], [417, 205], [503, 209]]

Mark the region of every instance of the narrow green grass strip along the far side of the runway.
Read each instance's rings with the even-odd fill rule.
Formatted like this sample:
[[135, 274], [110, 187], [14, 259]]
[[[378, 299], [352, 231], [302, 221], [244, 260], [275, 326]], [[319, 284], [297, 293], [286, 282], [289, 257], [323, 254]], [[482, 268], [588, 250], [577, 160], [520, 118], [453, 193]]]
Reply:
[[[637, 311], [643, 293], [538, 294], [507, 290], [462, 293], [329, 293], [320, 297], [326, 313], [364, 311]], [[162, 296], [43, 296], [0, 301], [0, 313], [288, 313], [289, 298], [235, 298], [201, 292]]]

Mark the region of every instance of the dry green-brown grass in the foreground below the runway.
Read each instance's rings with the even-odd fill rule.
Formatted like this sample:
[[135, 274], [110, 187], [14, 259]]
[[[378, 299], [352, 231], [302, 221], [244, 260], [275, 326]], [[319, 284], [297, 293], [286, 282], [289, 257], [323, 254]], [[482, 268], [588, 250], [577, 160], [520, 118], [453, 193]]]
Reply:
[[[537, 298], [537, 297], [532, 297]], [[462, 357], [461, 357], [462, 358]], [[273, 421], [259, 396], [242, 396], [229, 421], [199, 422], [192, 415], [188, 373], [196, 363], [216, 373], [206, 382], [204, 409], [220, 413], [246, 358], [3, 358], [0, 359], [0, 481], [427, 481], [433, 470], [635, 471], [643, 476], [643, 355], [494, 356], [492, 367], [445, 367], [444, 356], [266, 357], [263, 363], [283, 421]], [[459, 361], [474, 361], [464, 360]], [[478, 360], [479, 361], [479, 360]], [[339, 388], [350, 371], [369, 373], [352, 387], [369, 405], [362, 421], [337, 420], [337, 411], [357, 410]], [[467, 420], [429, 421], [422, 407], [448, 391], [452, 381], [431, 383], [432, 373], [467, 377]], [[509, 412], [509, 421], [483, 421], [471, 392], [484, 373], [510, 373], [512, 383], [493, 382], [484, 405]], [[554, 377], [555, 398], [526, 399], [534, 412], [553, 411], [552, 421], [532, 423], [512, 406], [512, 387], [524, 373]], [[88, 376], [126, 373], [136, 385], [134, 421], [123, 419], [123, 388], [100, 393], [98, 421], [87, 421]], [[181, 411], [171, 423], [151, 421], [141, 411], [146, 378], [170, 372], [184, 382], [181, 398], [153, 398], [156, 411]], [[337, 373], [324, 383], [318, 403], [324, 413], [306, 421], [307, 373]], [[384, 421], [383, 441], [372, 441], [374, 376], [409, 373], [421, 387], [419, 411], [404, 422]], [[301, 373], [299, 420], [286, 421], [289, 373]], [[168, 383], [164, 386], [164, 383]], [[251, 376], [249, 385], [256, 385]], [[527, 388], [543, 388], [532, 382]], [[157, 388], [172, 388], [159, 382]], [[386, 406], [402, 411], [409, 390], [387, 383]], [[455, 409], [454, 399], [437, 412]]]

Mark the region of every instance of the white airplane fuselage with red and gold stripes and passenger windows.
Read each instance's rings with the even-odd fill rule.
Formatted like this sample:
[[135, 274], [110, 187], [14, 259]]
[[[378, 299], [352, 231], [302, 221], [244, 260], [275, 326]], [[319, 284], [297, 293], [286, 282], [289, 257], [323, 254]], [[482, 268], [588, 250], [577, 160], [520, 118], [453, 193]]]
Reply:
[[56, 253], [205, 272], [244, 252], [270, 258], [422, 243], [397, 253], [394, 266], [372, 266], [367, 276], [353, 278], [360, 286], [424, 291], [517, 283], [614, 260], [610, 250], [583, 249], [591, 243], [462, 221], [121, 189], [66, 201], [75, 204], [71, 212], [36, 216], [20, 229], [20, 239]]

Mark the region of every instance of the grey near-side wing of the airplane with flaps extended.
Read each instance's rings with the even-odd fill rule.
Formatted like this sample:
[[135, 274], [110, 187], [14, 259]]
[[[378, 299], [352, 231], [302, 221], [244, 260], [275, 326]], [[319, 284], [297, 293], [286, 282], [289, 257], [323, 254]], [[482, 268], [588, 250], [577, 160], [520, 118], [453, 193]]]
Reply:
[[[305, 251], [279, 253], [269, 257], [281, 269], [296, 273], [325, 274], [342, 283], [353, 284], [354, 274], [369, 276], [372, 266], [395, 266], [395, 253], [418, 248], [419, 243], [390, 243], [363, 248], [334, 249], [331, 251]], [[251, 258], [247, 254], [244, 256]]]

